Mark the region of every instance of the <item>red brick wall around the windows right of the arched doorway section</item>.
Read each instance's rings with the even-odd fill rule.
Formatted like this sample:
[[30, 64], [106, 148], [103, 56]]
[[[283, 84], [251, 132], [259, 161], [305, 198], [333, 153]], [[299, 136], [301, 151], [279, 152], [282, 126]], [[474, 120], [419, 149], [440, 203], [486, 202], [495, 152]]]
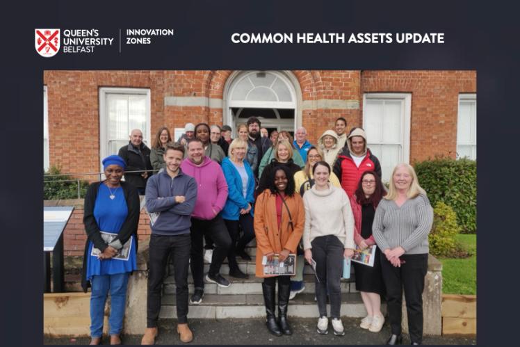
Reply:
[[[411, 92], [410, 162], [457, 150], [458, 97], [476, 92], [475, 71], [363, 71], [361, 92]], [[362, 105], [361, 105], [362, 107]], [[361, 124], [361, 119], [359, 123]]]

